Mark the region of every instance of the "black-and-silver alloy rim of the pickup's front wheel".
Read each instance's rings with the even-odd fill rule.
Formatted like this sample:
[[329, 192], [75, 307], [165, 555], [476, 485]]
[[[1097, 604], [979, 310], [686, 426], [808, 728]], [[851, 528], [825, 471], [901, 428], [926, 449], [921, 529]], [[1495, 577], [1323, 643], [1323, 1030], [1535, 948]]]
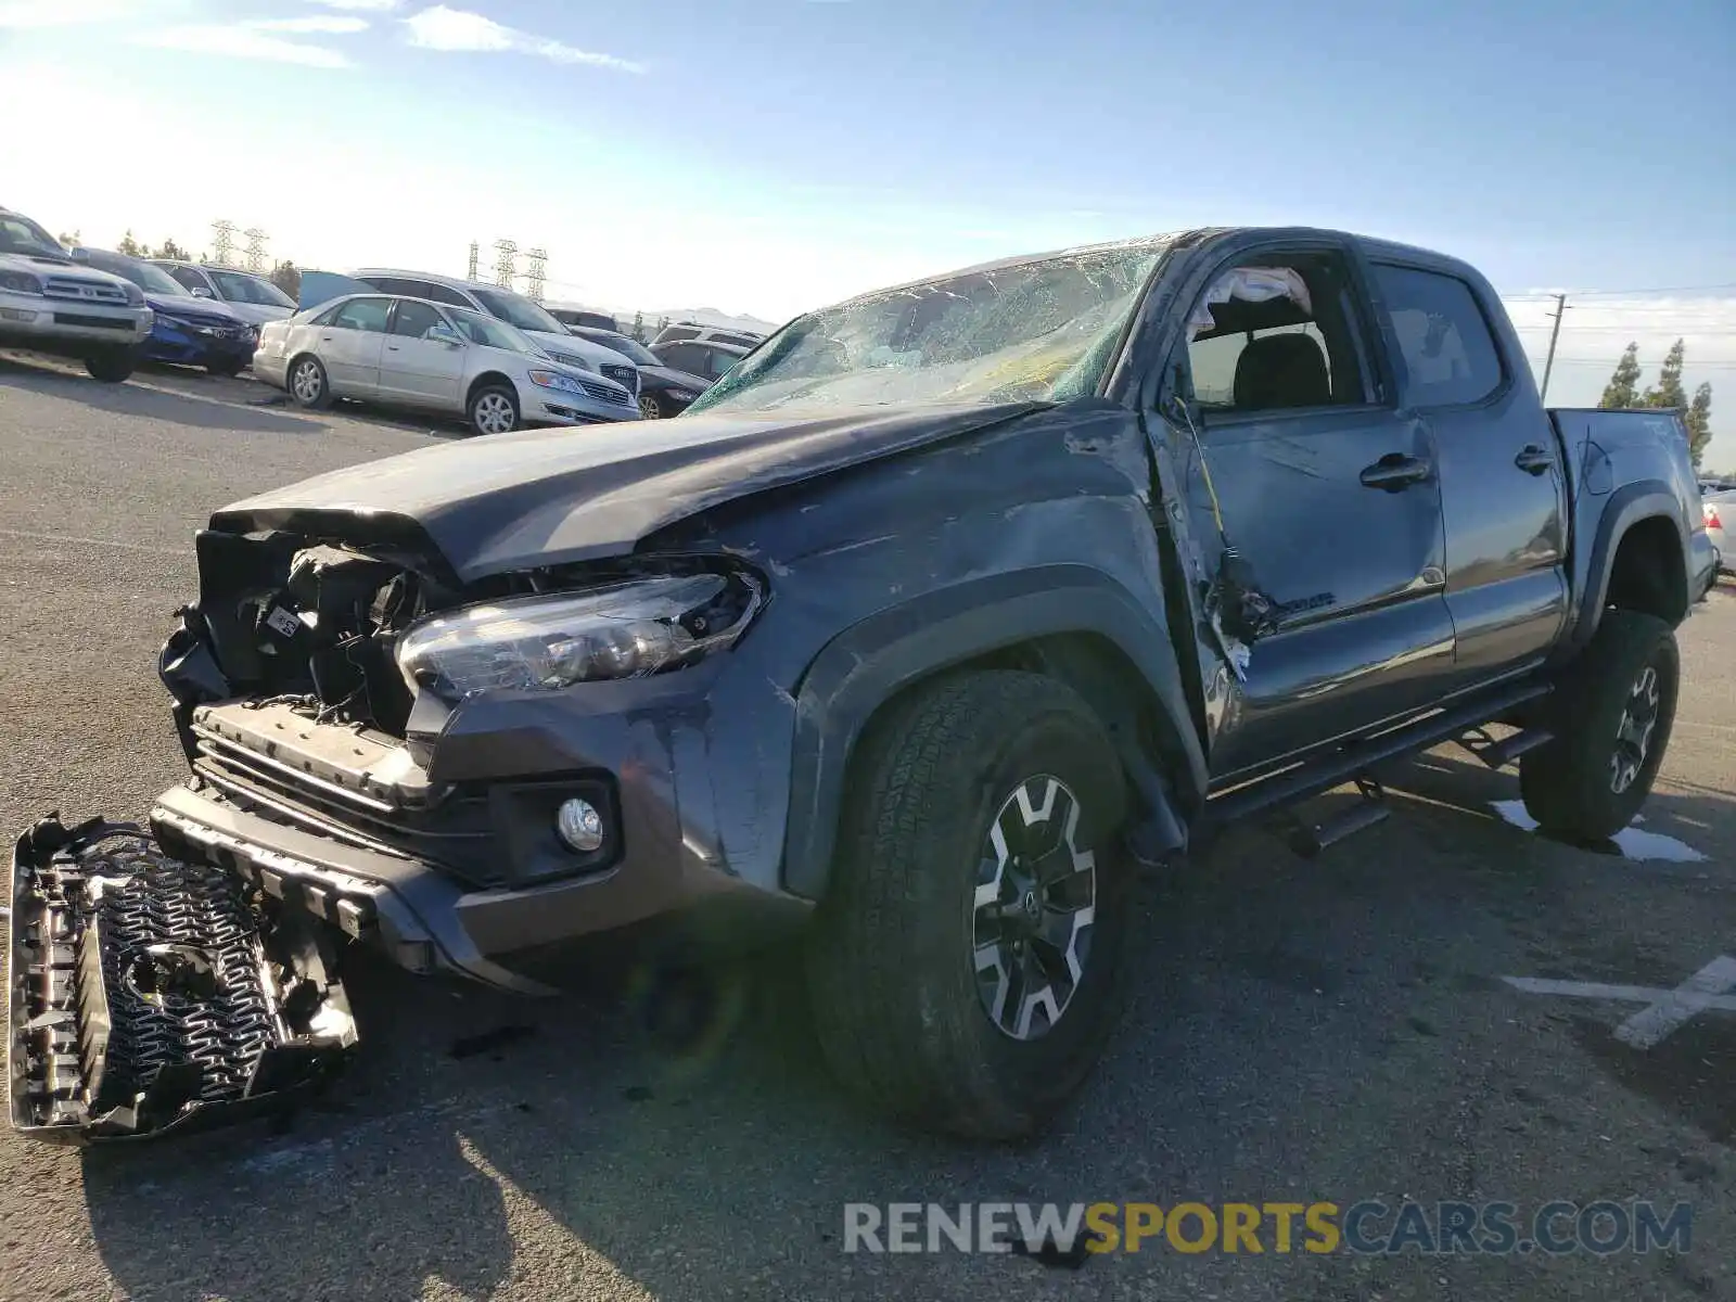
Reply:
[[1038, 774], [1002, 802], [970, 901], [977, 996], [995, 1028], [1036, 1040], [1078, 993], [1097, 917], [1097, 859], [1078, 844], [1080, 799]]

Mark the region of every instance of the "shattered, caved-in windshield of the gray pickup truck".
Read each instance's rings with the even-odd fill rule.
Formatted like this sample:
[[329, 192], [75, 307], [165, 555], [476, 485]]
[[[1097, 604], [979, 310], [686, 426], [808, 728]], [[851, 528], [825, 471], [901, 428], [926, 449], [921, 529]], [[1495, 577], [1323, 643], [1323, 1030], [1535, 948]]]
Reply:
[[1163, 257], [1142, 240], [965, 271], [799, 318], [689, 411], [1064, 401], [1092, 392]]

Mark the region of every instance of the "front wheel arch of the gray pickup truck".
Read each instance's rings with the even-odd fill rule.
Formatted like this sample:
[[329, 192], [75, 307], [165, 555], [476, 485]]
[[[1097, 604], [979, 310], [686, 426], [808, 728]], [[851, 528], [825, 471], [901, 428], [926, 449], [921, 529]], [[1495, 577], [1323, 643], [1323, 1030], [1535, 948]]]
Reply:
[[795, 694], [783, 856], [790, 892], [826, 892], [866, 731], [911, 691], [963, 668], [1026, 668], [1068, 682], [1118, 746], [1144, 748], [1182, 807], [1203, 800], [1205, 753], [1163, 613], [1087, 566], [995, 575], [868, 616], [814, 656]]

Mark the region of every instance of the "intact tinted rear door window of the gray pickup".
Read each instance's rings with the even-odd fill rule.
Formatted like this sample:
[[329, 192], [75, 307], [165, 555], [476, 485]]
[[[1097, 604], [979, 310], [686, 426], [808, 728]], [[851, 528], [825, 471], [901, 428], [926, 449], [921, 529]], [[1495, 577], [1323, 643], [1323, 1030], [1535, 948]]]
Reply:
[[1502, 356], [1465, 281], [1434, 271], [1377, 266], [1392, 335], [1417, 406], [1476, 403], [1502, 384]]

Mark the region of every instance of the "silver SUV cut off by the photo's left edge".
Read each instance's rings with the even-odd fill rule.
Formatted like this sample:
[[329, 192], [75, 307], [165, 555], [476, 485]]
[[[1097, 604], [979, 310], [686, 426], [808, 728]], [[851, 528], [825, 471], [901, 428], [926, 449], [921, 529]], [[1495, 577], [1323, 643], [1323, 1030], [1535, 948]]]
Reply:
[[137, 285], [78, 266], [30, 217], [0, 208], [0, 344], [78, 358], [95, 378], [120, 384], [151, 321]]

